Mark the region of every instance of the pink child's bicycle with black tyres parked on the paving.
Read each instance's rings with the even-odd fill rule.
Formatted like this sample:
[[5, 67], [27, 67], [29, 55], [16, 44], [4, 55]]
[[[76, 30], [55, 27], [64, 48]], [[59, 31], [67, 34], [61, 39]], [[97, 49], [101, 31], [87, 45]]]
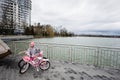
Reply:
[[41, 54], [43, 54], [43, 52], [33, 56], [32, 59], [28, 55], [23, 56], [18, 63], [20, 68], [19, 73], [25, 73], [29, 69], [30, 65], [37, 69], [40, 68], [41, 70], [48, 70], [50, 68], [50, 61], [46, 57], [41, 57]]

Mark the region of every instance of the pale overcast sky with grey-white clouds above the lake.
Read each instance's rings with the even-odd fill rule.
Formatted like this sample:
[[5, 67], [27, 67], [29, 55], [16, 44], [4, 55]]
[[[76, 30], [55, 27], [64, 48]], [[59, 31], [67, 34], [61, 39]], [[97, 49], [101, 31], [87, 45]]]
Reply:
[[73, 32], [120, 30], [120, 0], [32, 0], [31, 16]]

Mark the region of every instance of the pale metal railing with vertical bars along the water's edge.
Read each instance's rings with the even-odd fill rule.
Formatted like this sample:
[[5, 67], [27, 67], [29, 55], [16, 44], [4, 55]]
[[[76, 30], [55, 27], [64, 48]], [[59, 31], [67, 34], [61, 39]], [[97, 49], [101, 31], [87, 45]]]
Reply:
[[[13, 53], [18, 53], [26, 50], [28, 43], [16, 41], [9, 43], [9, 46]], [[119, 48], [37, 42], [36, 46], [44, 52], [44, 56], [51, 60], [78, 62], [81, 64], [120, 69]]]

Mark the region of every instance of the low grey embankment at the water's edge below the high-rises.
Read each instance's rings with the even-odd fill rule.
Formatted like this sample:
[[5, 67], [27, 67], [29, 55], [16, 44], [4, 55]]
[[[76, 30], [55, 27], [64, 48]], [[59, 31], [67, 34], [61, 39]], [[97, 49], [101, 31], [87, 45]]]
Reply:
[[18, 41], [18, 40], [27, 40], [27, 39], [33, 39], [34, 37], [32, 35], [0, 35], [0, 39], [3, 41]]

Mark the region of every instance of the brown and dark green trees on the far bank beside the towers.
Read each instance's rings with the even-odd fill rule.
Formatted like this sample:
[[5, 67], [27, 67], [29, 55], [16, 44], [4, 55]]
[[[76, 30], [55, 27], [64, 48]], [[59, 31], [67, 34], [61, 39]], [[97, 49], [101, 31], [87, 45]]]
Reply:
[[54, 28], [52, 25], [32, 25], [31, 27], [25, 28], [26, 35], [34, 35], [35, 37], [54, 37], [54, 36], [74, 36], [73, 32], [68, 32], [66, 28], [60, 28], [59, 30]]

